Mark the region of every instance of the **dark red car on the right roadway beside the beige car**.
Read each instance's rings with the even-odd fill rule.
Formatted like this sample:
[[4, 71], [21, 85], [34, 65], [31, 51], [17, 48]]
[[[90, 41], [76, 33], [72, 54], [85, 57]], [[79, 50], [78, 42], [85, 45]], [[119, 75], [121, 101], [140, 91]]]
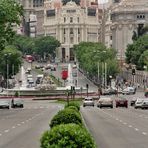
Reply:
[[117, 97], [115, 99], [116, 108], [117, 107], [126, 107], [128, 108], [128, 100], [125, 97]]

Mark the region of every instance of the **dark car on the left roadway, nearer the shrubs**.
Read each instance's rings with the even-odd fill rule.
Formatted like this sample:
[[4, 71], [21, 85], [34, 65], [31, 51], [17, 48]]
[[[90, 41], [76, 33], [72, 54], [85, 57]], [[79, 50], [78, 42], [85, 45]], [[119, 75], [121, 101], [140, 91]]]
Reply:
[[11, 100], [11, 108], [24, 107], [24, 101], [21, 98], [13, 98]]

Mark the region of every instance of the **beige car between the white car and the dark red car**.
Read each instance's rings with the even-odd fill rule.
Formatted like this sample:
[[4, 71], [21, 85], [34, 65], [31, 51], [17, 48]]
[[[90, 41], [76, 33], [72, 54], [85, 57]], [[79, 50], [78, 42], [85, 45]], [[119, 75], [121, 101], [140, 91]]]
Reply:
[[110, 107], [113, 108], [113, 99], [110, 97], [102, 97], [97, 102], [97, 107]]

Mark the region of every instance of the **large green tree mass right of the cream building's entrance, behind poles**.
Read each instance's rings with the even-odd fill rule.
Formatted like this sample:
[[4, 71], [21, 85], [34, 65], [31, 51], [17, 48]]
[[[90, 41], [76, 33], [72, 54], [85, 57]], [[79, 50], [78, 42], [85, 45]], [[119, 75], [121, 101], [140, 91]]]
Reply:
[[97, 76], [98, 63], [100, 73], [104, 71], [102, 63], [107, 63], [107, 68], [111, 69], [111, 72], [109, 70], [107, 71], [108, 77], [109, 73], [110, 75], [115, 76], [119, 71], [116, 51], [112, 48], [106, 48], [102, 43], [81, 42], [74, 46], [74, 50], [80, 68], [88, 72], [90, 77]]

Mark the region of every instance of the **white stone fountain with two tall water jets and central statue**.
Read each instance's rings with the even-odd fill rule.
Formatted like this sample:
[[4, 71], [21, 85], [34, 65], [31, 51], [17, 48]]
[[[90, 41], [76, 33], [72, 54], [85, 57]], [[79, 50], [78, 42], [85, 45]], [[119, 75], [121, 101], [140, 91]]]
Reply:
[[[55, 84], [48, 83], [48, 75], [44, 75], [43, 83], [35, 87], [27, 87], [27, 77], [25, 69], [22, 66], [20, 71], [21, 83], [17, 84], [15, 88], [8, 89], [9, 95], [14, 95], [16, 92], [20, 92], [21, 96], [57, 96], [65, 95], [65, 91], [71, 90], [71, 86], [75, 86], [74, 78], [72, 75], [72, 65], [68, 64], [68, 78], [65, 87], [56, 87]], [[50, 78], [49, 78], [50, 79]], [[85, 88], [84, 88], [85, 89]], [[80, 87], [75, 87], [76, 92], [80, 92]]]

